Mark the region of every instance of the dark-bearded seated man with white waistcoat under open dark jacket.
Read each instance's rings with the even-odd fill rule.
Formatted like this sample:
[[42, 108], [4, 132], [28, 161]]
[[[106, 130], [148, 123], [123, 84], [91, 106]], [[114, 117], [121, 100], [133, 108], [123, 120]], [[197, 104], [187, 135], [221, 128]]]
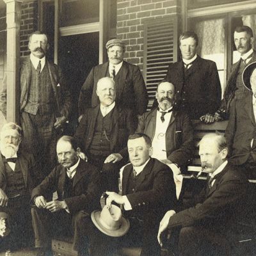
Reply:
[[193, 157], [193, 127], [188, 115], [173, 110], [175, 86], [172, 83], [159, 83], [156, 99], [158, 108], [139, 117], [136, 132], [143, 132], [152, 140], [152, 157], [184, 169]]

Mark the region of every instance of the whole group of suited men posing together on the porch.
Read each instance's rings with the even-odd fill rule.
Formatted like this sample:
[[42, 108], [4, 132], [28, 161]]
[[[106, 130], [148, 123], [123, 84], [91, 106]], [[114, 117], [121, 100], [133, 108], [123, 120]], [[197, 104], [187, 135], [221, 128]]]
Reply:
[[[179, 42], [182, 60], [170, 65], [157, 86], [155, 108], [146, 112], [140, 69], [123, 60], [121, 40], [109, 40], [109, 61], [93, 67], [81, 88], [74, 136], [61, 136], [71, 93], [60, 68], [45, 58], [47, 35], [29, 37], [31, 54], [20, 69], [21, 127], [8, 123], [1, 131], [0, 243], [6, 255], [28, 244], [31, 228], [22, 220], [33, 225], [36, 255], [52, 255], [56, 234], [73, 234], [79, 256], [111, 255], [124, 244], [139, 244], [141, 255], [161, 255], [167, 230], [180, 255], [231, 254], [227, 234], [236, 229], [256, 168], [253, 33], [246, 26], [234, 31], [241, 60], [232, 67], [223, 100], [216, 64], [196, 54], [196, 34], [185, 32]], [[5, 115], [6, 88], [4, 83], [0, 95]], [[209, 134], [198, 145], [209, 173], [205, 188], [191, 205], [180, 204], [173, 176], [194, 155], [191, 119], [211, 123], [228, 116], [225, 137]], [[115, 204], [129, 220], [117, 226]]]

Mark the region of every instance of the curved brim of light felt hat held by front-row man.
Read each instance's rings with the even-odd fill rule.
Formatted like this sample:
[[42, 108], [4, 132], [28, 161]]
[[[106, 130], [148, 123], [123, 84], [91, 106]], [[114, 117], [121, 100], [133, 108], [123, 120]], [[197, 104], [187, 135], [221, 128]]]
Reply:
[[105, 228], [100, 223], [100, 212], [101, 211], [93, 211], [91, 214], [92, 222], [93, 224], [104, 234], [112, 237], [120, 237], [124, 236], [129, 228], [130, 228], [130, 222], [129, 220], [126, 220], [123, 216], [121, 217], [121, 226], [117, 230], [109, 230]]

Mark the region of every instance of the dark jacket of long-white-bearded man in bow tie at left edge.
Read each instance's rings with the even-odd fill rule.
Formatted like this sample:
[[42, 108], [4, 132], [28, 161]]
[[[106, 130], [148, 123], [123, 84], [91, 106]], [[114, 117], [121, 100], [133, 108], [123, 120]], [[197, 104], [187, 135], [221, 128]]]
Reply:
[[[26, 152], [17, 152], [17, 162], [20, 164], [21, 172], [24, 178], [24, 184], [28, 191], [28, 194], [31, 193], [32, 189], [36, 183], [36, 164], [33, 155]], [[3, 157], [0, 154], [0, 188], [5, 191], [7, 186], [6, 180], [6, 168], [4, 166]]]

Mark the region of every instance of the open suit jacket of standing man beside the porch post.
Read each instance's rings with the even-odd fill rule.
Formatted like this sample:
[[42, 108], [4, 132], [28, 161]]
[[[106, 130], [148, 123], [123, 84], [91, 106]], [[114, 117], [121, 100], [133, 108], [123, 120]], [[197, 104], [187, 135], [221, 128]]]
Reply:
[[[20, 111], [23, 111], [27, 104], [29, 86], [31, 83], [31, 61], [28, 56], [22, 61], [20, 66]], [[46, 60], [45, 65], [49, 69], [51, 77], [53, 97], [56, 99], [56, 116], [65, 116], [68, 118], [70, 112], [70, 92], [61, 73], [60, 67]], [[6, 116], [6, 77], [4, 78], [3, 88], [0, 93], [0, 110]]]

